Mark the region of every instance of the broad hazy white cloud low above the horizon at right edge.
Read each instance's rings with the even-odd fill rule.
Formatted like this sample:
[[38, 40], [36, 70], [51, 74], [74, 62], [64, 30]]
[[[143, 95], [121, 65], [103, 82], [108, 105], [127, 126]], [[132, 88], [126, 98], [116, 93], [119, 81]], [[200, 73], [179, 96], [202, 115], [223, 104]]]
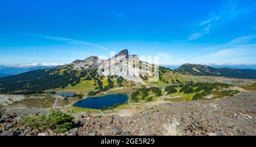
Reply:
[[256, 35], [234, 38], [225, 44], [208, 47], [202, 51], [207, 51], [201, 57], [191, 60], [193, 63], [256, 63]]

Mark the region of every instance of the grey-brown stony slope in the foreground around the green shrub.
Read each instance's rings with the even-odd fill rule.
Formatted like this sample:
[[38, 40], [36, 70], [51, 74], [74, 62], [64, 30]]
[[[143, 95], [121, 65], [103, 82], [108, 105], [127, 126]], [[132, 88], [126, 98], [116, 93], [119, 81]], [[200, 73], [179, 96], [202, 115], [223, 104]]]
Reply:
[[20, 116], [0, 118], [0, 133], [11, 136], [76, 135], [256, 135], [256, 92], [221, 100], [167, 102], [132, 116], [76, 114], [74, 128], [57, 134], [20, 126]]

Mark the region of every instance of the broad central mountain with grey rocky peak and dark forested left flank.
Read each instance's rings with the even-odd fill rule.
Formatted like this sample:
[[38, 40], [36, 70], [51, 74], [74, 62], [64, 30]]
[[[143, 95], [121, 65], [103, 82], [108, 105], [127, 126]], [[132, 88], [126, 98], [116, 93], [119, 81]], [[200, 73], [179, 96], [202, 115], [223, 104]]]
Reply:
[[[129, 59], [135, 63], [129, 62]], [[104, 91], [132, 82], [147, 85], [178, 84], [196, 80], [195, 77], [180, 75], [161, 66], [158, 71], [156, 67], [158, 65], [139, 60], [137, 55], [129, 55], [126, 49], [106, 60], [92, 56], [60, 67], [2, 77], [0, 93], [35, 92], [76, 85]], [[159, 80], [155, 77], [159, 77]]]

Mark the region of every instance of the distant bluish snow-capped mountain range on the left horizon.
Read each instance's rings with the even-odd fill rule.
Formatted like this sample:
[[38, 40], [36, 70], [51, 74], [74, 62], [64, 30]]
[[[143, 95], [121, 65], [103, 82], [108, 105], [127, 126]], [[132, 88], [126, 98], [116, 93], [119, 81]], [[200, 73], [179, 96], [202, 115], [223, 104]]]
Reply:
[[16, 64], [11, 66], [3, 66], [0, 65], [0, 73], [5, 75], [18, 75], [23, 72], [41, 70], [41, 69], [49, 69], [53, 67], [63, 66], [65, 64], [57, 64], [57, 63], [33, 63], [33, 64]]

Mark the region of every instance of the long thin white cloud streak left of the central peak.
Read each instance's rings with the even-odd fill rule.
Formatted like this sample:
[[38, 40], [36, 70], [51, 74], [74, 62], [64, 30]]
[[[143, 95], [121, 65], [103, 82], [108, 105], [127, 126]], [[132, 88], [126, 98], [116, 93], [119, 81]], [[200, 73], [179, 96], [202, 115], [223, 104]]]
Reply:
[[100, 46], [98, 44], [94, 44], [94, 43], [88, 42], [88, 41], [74, 40], [74, 39], [71, 39], [71, 38], [64, 38], [64, 37], [44, 36], [44, 35], [38, 35], [38, 34], [28, 34], [28, 33], [23, 33], [23, 34], [24, 35], [28, 35], [28, 36], [45, 38], [45, 39], [48, 39], [48, 40], [55, 40], [55, 41], [66, 42], [68, 44], [92, 45], [94, 47], [97, 47], [98, 49], [109, 50], [106, 47], [103, 47], [103, 46]]

